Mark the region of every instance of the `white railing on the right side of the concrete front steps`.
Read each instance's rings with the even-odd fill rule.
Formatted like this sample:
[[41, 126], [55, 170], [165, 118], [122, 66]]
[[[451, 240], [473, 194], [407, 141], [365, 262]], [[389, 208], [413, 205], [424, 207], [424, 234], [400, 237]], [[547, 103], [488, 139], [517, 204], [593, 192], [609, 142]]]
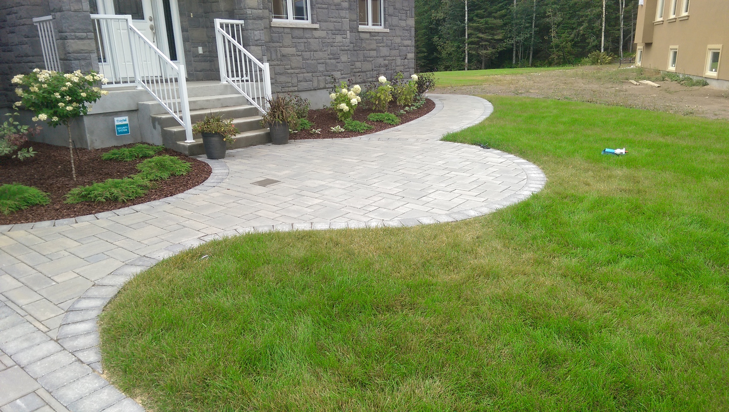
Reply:
[[253, 106], [265, 111], [271, 98], [268, 62], [261, 63], [243, 47], [243, 20], [215, 19], [220, 82], [232, 84]]

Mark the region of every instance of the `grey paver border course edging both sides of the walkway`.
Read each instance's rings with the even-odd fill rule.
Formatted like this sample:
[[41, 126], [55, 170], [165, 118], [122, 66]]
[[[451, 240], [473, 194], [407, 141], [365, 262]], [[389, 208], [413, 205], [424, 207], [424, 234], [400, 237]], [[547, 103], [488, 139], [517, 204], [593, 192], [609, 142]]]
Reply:
[[[412, 128], [414, 124], [427, 122], [443, 110], [443, 101], [438, 95], [431, 95], [436, 107], [429, 114], [415, 119], [412, 122], [401, 124], [381, 132], [375, 132], [372, 135], [365, 135], [355, 138], [344, 138], [351, 140], [410, 140], [418, 139], [417, 135], [397, 135], [400, 132], [406, 132]], [[451, 97], [452, 98], [452, 97]], [[474, 98], [468, 96], [468, 98]], [[452, 127], [446, 127], [440, 137], [450, 132], [456, 132], [474, 124], [478, 124], [486, 117], [490, 116], [494, 111], [494, 107], [487, 100], [477, 98], [483, 103], [483, 111], [476, 117], [468, 119], [464, 118], [464, 122], [458, 122], [454, 119]], [[395, 134], [395, 136], [393, 136]], [[332, 139], [339, 140], [339, 139]], [[429, 138], [429, 140], [433, 140]], [[300, 140], [297, 144], [307, 144], [308, 142], [316, 142], [318, 140]], [[437, 141], [437, 140], [436, 140]], [[448, 143], [459, 145], [462, 143]], [[245, 149], [236, 149], [237, 151]], [[82, 296], [77, 298], [71, 306], [66, 309], [61, 320], [61, 326], [58, 328], [56, 341], [53, 341], [46, 334], [35, 329], [28, 320], [20, 317], [19, 314], [0, 301], [0, 328], [4, 333], [8, 327], [20, 328], [28, 330], [26, 342], [20, 346], [7, 346], [1, 342], [0, 349], [7, 353], [8, 348], [12, 349], [12, 354], [7, 353], [21, 368], [26, 370], [39, 384], [47, 389], [55, 399], [68, 406], [72, 411], [144, 411], [139, 404], [129, 397], [125, 397], [108, 381], [101, 378], [103, 372], [101, 365], [101, 349], [99, 347], [98, 333], [98, 316], [101, 314], [104, 306], [119, 292], [128, 280], [139, 272], [149, 269], [161, 259], [166, 258], [182, 250], [190, 247], [198, 246], [204, 242], [222, 237], [231, 237], [238, 234], [263, 233], [268, 231], [292, 231], [292, 230], [326, 230], [326, 229], [363, 229], [372, 227], [404, 227], [416, 226], [421, 224], [445, 223], [451, 221], [461, 221], [467, 218], [473, 218], [487, 213], [494, 212], [502, 207], [521, 202], [527, 199], [531, 194], [541, 190], [547, 179], [539, 170], [539, 167], [531, 164], [524, 159], [516, 157], [512, 154], [504, 153], [496, 149], [484, 148], [484, 151], [490, 152], [497, 157], [507, 159], [514, 165], [518, 165], [526, 173], [526, 183], [520, 190], [508, 195], [498, 201], [488, 202], [480, 207], [473, 207], [465, 210], [459, 210], [443, 215], [430, 215], [421, 218], [396, 218], [389, 221], [373, 220], [373, 221], [346, 221], [346, 222], [320, 222], [320, 223], [281, 223], [262, 226], [246, 226], [237, 229], [221, 231], [214, 234], [206, 234], [201, 237], [195, 237], [168, 245], [161, 250], [156, 250], [146, 255], [125, 261], [118, 269], [111, 274], [107, 274], [101, 279], [95, 280]], [[133, 213], [141, 213], [149, 211], [157, 206], [167, 205], [182, 199], [187, 199], [195, 194], [203, 194], [213, 189], [226, 180], [229, 175], [229, 167], [222, 160], [202, 159], [211, 165], [213, 172], [208, 180], [196, 186], [193, 189], [185, 191], [165, 199], [156, 200], [140, 205], [125, 207], [111, 212], [98, 213], [97, 215], [81, 216], [74, 219], [63, 219], [61, 221], [47, 221], [38, 223], [22, 223], [17, 225], [7, 225], [0, 227], [1, 231], [15, 231], [31, 229], [32, 227], [49, 227], [63, 226], [71, 223], [82, 223], [96, 219], [111, 218], [114, 216], [130, 215]], [[69, 221], [69, 222], [66, 222]], [[73, 222], [71, 222], [73, 221]], [[36, 226], [38, 225], [38, 226]], [[16, 228], [16, 226], [18, 226]], [[27, 324], [27, 325], [26, 325]], [[25, 325], [25, 326], [23, 326]], [[20, 332], [18, 329], [18, 333]], [[36, 338], [33, 338], [36, 336]], [[28, 340], [30, 339], [30, 340]], [[32, 341], [32, 342], [31, 342]], [[15, 342], [15, 341], [12, 341]], [[17, 346], [17, 347], [16, 347]], [[22, 346], [22, 347], [21, 347]], [[17, 349], [17, 350], [16, 350]], [[20, 355], [19, 353], [27, 353]], [[17, 358], [17, 359], [16, 359]], [[60, 410], [60, 409], [59, 409]]]

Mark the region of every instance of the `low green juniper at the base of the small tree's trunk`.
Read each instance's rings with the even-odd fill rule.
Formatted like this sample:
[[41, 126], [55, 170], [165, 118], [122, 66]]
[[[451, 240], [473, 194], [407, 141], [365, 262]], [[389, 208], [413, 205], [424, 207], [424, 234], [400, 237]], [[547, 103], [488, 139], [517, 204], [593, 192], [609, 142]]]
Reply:
[[79, 202], [128, 202], [142, 197], [156, 186], [139, 176], [123, 179], [106, 179], [101, 183], [79, 186], [66, 194], [66, 203]]

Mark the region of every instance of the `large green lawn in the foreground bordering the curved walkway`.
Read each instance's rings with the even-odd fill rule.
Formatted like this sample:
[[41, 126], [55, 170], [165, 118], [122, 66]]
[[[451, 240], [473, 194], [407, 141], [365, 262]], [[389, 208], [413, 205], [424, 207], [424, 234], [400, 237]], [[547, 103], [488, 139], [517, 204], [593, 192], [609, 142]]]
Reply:
[[110, 379], [155, 411], [729, 410], [729, 122], [488, 98], [448, 140], [539, 194], [169, 258], [102, 314]]

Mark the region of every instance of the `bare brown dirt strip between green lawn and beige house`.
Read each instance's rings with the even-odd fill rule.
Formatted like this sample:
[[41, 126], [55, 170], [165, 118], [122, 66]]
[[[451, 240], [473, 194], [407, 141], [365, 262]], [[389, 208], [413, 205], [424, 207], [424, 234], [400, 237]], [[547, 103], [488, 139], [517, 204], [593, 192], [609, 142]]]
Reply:
[[[628, 80], [652, 80], [660, 87], [636, 86]], [[520, 95], [577, 100], [611, 106], [729, 119], [729, 90], [711, 86], [686, 87], [664, 81], [659, 71], [642, 68], [585, 66], [532, 74], [484, 76], [475, 86], [436, 87], [434, 93], [464, 95]]]

